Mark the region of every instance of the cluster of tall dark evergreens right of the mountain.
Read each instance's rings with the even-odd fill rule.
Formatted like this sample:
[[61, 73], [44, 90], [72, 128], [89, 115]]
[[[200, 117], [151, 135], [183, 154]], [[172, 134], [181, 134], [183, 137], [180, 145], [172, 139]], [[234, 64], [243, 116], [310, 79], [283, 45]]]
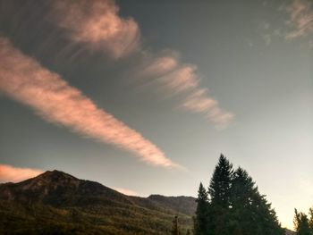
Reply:
[[[200, 183], [197, 202], [195, 235], [285, 233], [277, 220], [275, 210], [266, 197], [258, 192], [258, 187], [248, 172], [241, 167], [234, 170], [233, 164], [224, 155], [218, 160], [208, 189]], [[297, 217], [299, 221], [303, 219], [302, 215]]]

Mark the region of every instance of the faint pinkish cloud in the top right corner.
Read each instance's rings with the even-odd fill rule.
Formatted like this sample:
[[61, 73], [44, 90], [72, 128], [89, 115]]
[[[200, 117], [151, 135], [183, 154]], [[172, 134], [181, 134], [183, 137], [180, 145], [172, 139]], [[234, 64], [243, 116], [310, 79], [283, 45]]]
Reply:
[[292, 26], [292, 30], [285, 35], [286, 39], [300, 38], [313, 32], [313, 9], [309, 0], [294, 0], [286, 11]]

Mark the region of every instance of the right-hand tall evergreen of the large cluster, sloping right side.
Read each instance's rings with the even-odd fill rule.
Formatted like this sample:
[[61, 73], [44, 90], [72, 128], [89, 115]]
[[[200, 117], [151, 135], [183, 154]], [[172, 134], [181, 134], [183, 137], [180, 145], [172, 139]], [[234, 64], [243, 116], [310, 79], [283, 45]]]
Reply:
[[231, 201], [233, 234], [284, 234], [275, 211], [241, 167], [233, 174]]

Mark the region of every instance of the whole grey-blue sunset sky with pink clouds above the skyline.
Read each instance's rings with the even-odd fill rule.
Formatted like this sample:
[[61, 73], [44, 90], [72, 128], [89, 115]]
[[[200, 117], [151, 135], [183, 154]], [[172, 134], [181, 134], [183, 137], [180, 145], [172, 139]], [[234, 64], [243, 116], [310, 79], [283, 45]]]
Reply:
[[0, 181], [196, 197], [223, 153], [313, 206], [313, 2], [0, 1]]

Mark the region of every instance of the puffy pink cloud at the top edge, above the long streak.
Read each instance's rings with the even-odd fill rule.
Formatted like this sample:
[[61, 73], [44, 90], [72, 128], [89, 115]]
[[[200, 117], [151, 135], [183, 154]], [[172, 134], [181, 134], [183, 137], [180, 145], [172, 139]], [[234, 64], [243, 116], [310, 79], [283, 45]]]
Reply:
[[121, 18], [114, 1], [56, 0], [52, 6], [54, 22], [66, 29], [67, 36], [75, 43], [107, 51], [114, 58], [129, 55], [139, 47], [137, 22]]

